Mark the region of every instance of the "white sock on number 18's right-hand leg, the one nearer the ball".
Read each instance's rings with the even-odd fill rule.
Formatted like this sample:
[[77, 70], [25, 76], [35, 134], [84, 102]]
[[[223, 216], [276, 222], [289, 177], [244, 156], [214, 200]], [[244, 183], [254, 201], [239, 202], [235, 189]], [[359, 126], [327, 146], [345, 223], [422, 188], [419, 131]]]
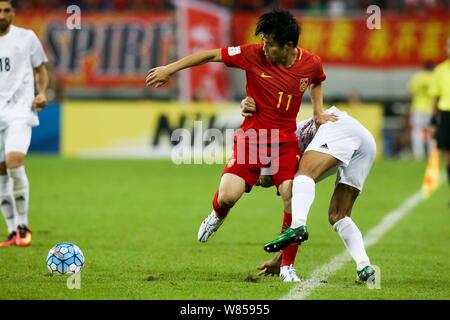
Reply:
[[25, 167], [21, 166], [15, 169], [7, 169], [8, 175], [13, 180], [14, 199], [17, 205], [17, 225], [24, 224], [28, 226], [28, 205], [30, 199], [30, 188], [28, 178], [25, 173]]

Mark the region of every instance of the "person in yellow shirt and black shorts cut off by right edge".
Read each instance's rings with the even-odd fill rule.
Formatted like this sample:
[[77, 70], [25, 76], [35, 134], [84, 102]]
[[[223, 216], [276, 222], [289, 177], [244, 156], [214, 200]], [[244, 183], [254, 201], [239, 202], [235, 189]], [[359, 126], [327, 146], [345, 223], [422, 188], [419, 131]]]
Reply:
[[438, 149], [445, 157], [447, 177], [450, 183], [450, 37], [447, 39], [448, 58], [434, 70], [430, 84], [433, 97], [433, 117], [431, 124], [437, 127]]

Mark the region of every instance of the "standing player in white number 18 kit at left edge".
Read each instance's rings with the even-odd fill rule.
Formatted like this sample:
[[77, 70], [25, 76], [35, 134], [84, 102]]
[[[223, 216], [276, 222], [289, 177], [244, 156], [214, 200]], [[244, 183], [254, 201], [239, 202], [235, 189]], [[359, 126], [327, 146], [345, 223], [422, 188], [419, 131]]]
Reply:
[[12, 24], [14, 14], [12, 2], [0, 0], [0, 207], [9, 233], [0, 247], [31, 244], [24, 160], [47, 104], [47, 57], [33, 31]]

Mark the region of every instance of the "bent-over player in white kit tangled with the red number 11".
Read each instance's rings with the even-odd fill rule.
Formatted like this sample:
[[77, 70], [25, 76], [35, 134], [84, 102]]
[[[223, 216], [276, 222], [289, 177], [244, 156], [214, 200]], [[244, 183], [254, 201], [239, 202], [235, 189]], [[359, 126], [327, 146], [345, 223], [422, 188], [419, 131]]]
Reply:
[[[248, 115], [244, 101], [243, 105], [243, 115]], [[250, 111], [255, 107], [250, 107]], [[328, 219], [355, 261], [358, 279], [365, 282], [374, 276], [375, 271], [367, 256], [361, 231], [351, 219], [351, 211], [375, 160], [376, 144], [372, 134], [346, 112], [331, 107], [326, 113], [336, 115], [338, 120], [322, 124], [318, 129], [313, 119], [297, 125], [302, 158], [293, 181], [291, 226], [266, 244], [264, 250], [276, 252], [308, 239], [306, 218], [314, 201], [315, 183], [337, 173]], [[264, 181], [260, 184], [271, 185]], [[260, 274], [274, 273], [280, 259], [278, 255], [264, 263]], [[281, 267], [280, 277], [287, 282], [300, 281], [292, 265]]]

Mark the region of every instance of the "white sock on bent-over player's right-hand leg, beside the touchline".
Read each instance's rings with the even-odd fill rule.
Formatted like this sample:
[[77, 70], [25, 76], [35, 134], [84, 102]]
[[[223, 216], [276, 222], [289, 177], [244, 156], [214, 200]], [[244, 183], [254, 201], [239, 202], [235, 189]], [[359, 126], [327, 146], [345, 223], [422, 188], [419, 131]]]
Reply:
[[350, 217], [345, 217], [333, 225], [336, 231], [344, 241], [348, 252], [356, 263], [356, 270], [361, 270], [365, 266], [370, 265], [369, 257], [364, 248], [364, 241], [356, 224]]

